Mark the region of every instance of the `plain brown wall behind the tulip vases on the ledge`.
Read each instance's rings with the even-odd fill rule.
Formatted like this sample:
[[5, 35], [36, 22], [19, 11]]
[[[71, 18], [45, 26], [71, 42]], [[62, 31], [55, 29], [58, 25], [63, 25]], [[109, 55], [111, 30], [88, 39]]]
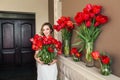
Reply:
[[95, 50], [106, 51], [112, 56], [113, 74], [120, 77], [120, 0], [62, 0], [62, 15], [73, 18], [88, 3], [103, 6], [102, 13], [109, 17], [109, 22], [102, 26]]

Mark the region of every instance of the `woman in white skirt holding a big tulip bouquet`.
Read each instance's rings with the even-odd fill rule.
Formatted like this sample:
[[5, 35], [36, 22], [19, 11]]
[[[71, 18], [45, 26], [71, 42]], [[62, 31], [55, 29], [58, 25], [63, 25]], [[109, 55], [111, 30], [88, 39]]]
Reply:
[[[53, 32], [52, 25], [50, 23], [44, 23], [41, 28], [41, 35], [49, 37]], [[57, 60], [54, 59], [51, 63], [44, 64], [37, 57], [38, 51], [35, 52], [34, 58], [37, 61], [37, 80], [57, 80]]]

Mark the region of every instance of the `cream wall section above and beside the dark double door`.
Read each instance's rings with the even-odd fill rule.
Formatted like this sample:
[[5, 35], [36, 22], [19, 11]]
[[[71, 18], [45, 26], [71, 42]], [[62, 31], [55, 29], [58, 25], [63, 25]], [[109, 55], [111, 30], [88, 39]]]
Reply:
[[0, 11], [32, 12], [36, 14], [36, 32], [48, 21], [48, 0], [0, 0]]

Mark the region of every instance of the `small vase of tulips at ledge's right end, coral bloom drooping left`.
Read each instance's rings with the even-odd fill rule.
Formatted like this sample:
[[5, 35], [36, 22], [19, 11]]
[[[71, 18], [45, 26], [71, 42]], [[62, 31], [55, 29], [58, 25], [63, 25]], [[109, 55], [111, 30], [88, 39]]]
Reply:
[[107, 53], [100, 54], [98, 51], [92, 52], [92, 57], [94, 60], [98, 60], [100, 63], [100, 71], [102, 75], [109, 75], [111, 73], [110, 65], [111, 59]]

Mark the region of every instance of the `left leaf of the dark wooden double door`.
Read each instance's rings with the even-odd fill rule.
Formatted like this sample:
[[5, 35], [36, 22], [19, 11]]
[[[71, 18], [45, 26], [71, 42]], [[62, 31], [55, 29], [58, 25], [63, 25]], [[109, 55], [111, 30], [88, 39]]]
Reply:
[[14, 22], [2, 21], [1, 23], [1, 53], [3, 64], [14, 64], [15, 55], [15, 36], [14, 36]]

